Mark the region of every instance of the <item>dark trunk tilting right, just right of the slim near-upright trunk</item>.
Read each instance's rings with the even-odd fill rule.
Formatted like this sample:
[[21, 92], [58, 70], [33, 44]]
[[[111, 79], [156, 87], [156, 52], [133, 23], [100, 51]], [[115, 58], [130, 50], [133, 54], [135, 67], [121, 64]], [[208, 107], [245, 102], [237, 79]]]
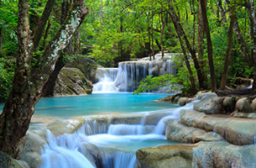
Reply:
[[224, 68], [222, 72], [222, 77], [221, 77], [221, 86], [220, 90], [224, 90], [226, 87], [226, 82], [227, 82], [227, 73], [228, 73], [228, 66], [229, 66], [229, 60], [230, 60], [230, 55], [232, 51], [232, 39], [233, 39], [233, 27], [234, 23], [236, 20], [236, 13], [232, 10], [231, 12], [231, 17], [230, 17], [230, 25], [228, 29], [228, 39], [227, 39], [227, 51], [226, 51], [226, 56], [225, 56], [225, 63], [224, 63]]

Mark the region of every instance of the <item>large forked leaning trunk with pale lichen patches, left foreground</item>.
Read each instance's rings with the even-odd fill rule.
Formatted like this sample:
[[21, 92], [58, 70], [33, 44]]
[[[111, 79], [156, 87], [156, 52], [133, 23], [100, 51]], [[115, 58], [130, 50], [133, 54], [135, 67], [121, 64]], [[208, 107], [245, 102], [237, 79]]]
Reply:
[[19, 0], [17, 65], [3, 113], [0, 115], [0, 150], [15, 155], [16, 144], [29, 129], [35, 104], [41, 97], [42, 88], [48, 80], [56, 60], [76, 29], [88, 14], [84, 0], [75, 0], [64, 24], [51, 40], [44, 54], [31, 66], [33, 41], [29, 29], [29, 0]]

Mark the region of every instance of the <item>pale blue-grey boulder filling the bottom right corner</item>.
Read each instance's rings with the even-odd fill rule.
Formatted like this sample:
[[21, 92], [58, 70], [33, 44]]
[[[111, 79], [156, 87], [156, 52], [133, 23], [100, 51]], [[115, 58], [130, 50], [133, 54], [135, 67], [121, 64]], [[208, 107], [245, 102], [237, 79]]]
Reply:
[[255, 167], [256, 146], [236, 146], [225, 141], [204, 142], [193, 148], [191, 167]]

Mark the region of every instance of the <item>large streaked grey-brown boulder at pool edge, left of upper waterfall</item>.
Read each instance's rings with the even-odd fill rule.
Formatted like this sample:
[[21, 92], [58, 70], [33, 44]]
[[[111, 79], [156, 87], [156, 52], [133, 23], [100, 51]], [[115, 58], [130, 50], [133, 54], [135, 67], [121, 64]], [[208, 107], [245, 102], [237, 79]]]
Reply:
[[93, 84], [77, 68], [62, 68], [54, 89], [55, 96], [92, 94]]

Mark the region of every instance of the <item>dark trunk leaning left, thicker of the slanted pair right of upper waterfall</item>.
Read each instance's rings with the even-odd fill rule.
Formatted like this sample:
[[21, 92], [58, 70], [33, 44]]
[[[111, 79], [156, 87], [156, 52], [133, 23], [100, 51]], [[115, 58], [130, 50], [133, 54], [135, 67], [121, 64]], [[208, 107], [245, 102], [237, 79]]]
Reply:
[[177, 13], [175, 12], [174, 8], [173, 8], [173, 5], [169, 2], [168, 3], [169, 5], [169, 13], [170, 13], [170, 17], [172, 18], [172, 21], [173, 21], [173, 24], [174, 24], [174, 27], [175, 27], [175, 30], [177, 32], [177, 34], [179, 34], [179, 36], [184, 39], [184, 42], [191, 54], [191, 57], [194, 61], [194, 65], [195, 65], [195, 69], [196, 69], [196, 73], [197, 73], [197, 77], [198, 77], [198, 81], [199, 81], [199, 85], [200, 85], [200, 88], [204, 88], [204, 76], [202, 75], [202, 72], [201, 72], [201, 67], [199, 65], [199, 62], [197, 60], [197, 57], [195, 55], [195, 50], [192, 49], [190, 43], [189, 43], [189, 39], [187, 38], [185, 32], [184, 32], [184, 29], [182, 27], [181, 24], [179, 24], [179, 18], [178, 18], [178, 15]]

